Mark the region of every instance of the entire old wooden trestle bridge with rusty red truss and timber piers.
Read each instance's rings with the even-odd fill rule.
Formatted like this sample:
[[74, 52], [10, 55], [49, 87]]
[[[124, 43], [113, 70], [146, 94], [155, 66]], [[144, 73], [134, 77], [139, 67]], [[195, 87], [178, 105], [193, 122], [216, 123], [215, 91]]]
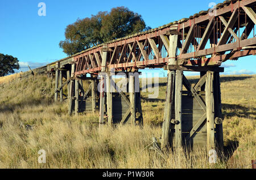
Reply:
[[[68, 85], [69, 114], [98, 109], [100, 124], [142, 125], [141, 95], [135, 91], [139, 76], [131, 72], [164, 68], [168, 78], [162, 148], [221, 149], [220, 72], [224, 68], [219, 66], [228, 59], [255, 54], [255, 10], [256, 0], [225, 1], [216, 10], [200, 11], [53, 62], [46, 71], [55, 74], [55, 101], [63, 101], [62, 88]], [[112, 69], [127, 75], [128, 92], [109, 91], [114, 84]], [[192, 86], [183, 71], [198, 71], [201, 78]], [[87, 91], [81, 80], [90, 80]]]

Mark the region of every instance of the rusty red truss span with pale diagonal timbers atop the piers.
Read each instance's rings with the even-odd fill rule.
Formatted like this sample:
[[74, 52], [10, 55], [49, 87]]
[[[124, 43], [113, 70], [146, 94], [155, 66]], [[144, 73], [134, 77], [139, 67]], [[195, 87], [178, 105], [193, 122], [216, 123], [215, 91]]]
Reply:
[[[256, 0], [225, 1], [210, 14], [200, 11], [189, 19], [110, 41], [73, 56], [75, 75], [101, 71], [102, 52], [108, 50], [108, 69], [154, 68], [167, 65], [220, 66], [228, 59], [255, 54]], [[170, 29], [176, 28], [176, 30]], [[170, 35], [179, 35], [177, 56], [169, 57]]]

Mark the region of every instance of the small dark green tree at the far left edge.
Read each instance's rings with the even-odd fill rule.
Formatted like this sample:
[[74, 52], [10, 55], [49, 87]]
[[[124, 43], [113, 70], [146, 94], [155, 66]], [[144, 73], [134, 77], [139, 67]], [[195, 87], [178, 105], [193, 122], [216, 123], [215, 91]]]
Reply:
[[19, 69], [19, 60], [11, 55], [0, 53], [0, 76], [13, 74], [14, 69]]

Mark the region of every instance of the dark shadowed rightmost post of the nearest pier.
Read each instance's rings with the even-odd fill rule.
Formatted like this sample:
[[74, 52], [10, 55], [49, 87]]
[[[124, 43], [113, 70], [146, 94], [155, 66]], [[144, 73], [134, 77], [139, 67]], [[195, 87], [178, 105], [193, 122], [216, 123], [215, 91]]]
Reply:
[[[214, 106], [215, 117], [223, 119], [221, 112], [220, 72], [214, 72]], [[216, 134], [218, 150], [222, 152], [224, 146], [222, 123], [216, 125]]]

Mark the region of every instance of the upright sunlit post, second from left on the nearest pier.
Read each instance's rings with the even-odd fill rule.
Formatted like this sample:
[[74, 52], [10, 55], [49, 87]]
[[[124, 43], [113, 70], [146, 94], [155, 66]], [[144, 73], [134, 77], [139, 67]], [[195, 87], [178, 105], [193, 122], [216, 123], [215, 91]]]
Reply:
[[175, 77], [175, 120], [179, 121], [175, 125], [175, 146], [180, 148], [182, 146], [182, 119], [181, 119], [181, 106], [182, 106], [182, 82], [183, 71], [176, 70]]

